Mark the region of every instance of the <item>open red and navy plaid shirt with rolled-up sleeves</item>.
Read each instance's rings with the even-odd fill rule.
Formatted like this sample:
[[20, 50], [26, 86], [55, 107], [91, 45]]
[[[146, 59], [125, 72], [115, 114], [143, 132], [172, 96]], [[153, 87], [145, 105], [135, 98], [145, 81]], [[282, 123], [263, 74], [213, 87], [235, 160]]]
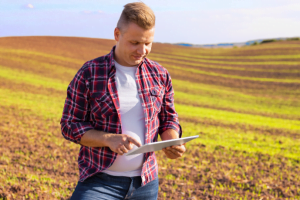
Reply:
[[[80, 143], [88, 130], [122, 134], [120, 102], [115, 81], [115, 46], [105, 56], [86, 62], [67, 89], [61, 118], [62, 135]], [[174, 108], [174, 92], [168, 71], [158, 63], [144, 58], [136, 72], [138, 94], [145, 113], [145, 144], [157, 141], [158, 134], [174, 129], [182, 135]], [[81, 145], [78, 157], [79, 181], [110, 167], [117, 153], [109, 147]], [[142, 185], [158, 176], [154, 152], [144, 153]]]

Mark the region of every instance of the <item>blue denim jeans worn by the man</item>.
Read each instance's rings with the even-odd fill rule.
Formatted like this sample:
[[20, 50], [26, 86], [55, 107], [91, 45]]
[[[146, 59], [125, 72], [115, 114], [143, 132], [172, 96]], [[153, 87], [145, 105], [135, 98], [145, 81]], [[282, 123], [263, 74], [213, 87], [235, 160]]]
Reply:
[[141, 187], [140, 176], [111, 176], [98, 173], [78, 181], [70, 200], [156, 200], [158, 195], [158, 178]]

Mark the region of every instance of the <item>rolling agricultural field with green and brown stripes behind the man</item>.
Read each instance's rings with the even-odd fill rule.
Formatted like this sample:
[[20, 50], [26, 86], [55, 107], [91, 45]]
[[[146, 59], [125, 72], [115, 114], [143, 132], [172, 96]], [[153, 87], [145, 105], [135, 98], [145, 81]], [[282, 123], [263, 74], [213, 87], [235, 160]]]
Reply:
[[[79, 145], [65, 140], [66, 89], [112, 40], [0, 38], [0, 199], [69, 199]], [[159, 199], [300, 199], [300, 41], [201, 49], [153, 44], [171, 74], [187, 143], [157, 152]]]

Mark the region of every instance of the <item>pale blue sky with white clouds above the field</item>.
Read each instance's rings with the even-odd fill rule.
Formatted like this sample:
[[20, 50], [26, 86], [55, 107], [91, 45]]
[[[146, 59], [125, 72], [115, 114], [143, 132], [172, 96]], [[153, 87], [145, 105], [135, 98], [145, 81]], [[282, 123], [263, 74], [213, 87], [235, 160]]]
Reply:
[[[0, 0], [0, 37], [113, 39], [127, 0]], [[300, 37], [299, 0], [143, 0], [155, 42], [216, 44]]]

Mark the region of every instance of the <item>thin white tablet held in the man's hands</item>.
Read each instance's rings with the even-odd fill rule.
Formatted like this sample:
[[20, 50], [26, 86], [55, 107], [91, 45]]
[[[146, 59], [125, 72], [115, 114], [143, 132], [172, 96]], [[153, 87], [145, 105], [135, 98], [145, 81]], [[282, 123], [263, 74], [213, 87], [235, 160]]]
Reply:
[[125, 155], [130, 156], [130, 155], [139, 154], [139, 153], [159, 151], [159, 150], [162, 150], [163, 148], [166, 148], [166, 147], [175, 146], [175, 145], [182, 145], [182, 144], [187, 143], [187, 142], [189, 142], [193, 139], [196, 139], [197, 137], [199, 137], [199, 135], [185, 137], [185, 138], [178, 138], [178, 139], [173, 139], [173, 140], [165, 140], [165, 141], [160, 141], [160, 142], [148, 143], [148, 144], [145, 144], [145, 145], [143, 145], [139, 148], [136, 148], [134, 150], [129, 151]]

